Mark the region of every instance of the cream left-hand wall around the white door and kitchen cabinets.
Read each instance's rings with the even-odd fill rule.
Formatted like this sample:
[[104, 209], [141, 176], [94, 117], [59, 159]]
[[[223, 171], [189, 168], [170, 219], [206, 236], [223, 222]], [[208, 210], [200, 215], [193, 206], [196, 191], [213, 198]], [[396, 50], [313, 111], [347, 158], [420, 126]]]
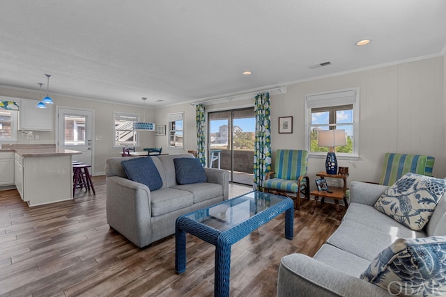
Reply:
[[[0, 87], [0, 96], [16, 97], [20, 99], [35, 99], [36, 104], [40, 94], [30, 90], [20, 90], [16, 88]], [[113, 113], [114, 111], [124, 113], [139, 114], [141, 120], [146, 121], [153, 120], [153, 109], [144, 109], [141, 106], [130, 106], [124, 104], [113, 104], [109, 102], [102, 102], [93, 99], [83, 99], [77, 97], [68, 97], [63, 95], [51, 95], [54, 101], [54, 107], [56, 106], [68, 106], [79, 109], [93, 109], [95, 111], [95, 140], [93, 140], [94, 151], [94, 172], [93, 175], [103, 174], [105, 172], [105, 159], [113, 156], [121, 156], [122, 149], [114, 148], [114, 133], [113, 133]], [[144, 114], [145, 113], [145, 114]], [[56, 125], [56, 109], [54, 109], [54, 123], [53, 131], [35, 131], [33, 134], [39, 135], [39, 140], [27, 140], [19, 133], [17, 134], [17, 143], [50, 143], [53, 144], [56, 141], [55, 126]], [[140, 132], [140, 145], [141, 147], [153, 147], [155, 145], [155, 133], [154, 132]]]

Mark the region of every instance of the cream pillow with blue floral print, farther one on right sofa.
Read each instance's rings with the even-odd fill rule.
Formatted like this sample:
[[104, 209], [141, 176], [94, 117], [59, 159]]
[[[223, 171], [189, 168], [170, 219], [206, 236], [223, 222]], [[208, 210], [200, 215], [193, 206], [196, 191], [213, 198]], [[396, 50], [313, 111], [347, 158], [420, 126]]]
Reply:
[[422, 230], [446, 191], [446, 179], [407, 173], [387, 188], [375, 208], [412, 230]]

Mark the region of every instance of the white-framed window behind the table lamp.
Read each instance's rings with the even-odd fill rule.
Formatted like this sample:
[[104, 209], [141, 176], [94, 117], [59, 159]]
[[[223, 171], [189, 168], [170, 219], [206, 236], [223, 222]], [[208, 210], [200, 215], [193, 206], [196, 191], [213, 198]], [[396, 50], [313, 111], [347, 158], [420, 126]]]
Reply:
[[326, 156], [329, 147], [318, 146], [318, 131], [344, 129], [347, 145], [337, 147], [339, 159], [357, 158], [359, 147], [358, 90], [305, 95], [305, 150], [310, 156]]

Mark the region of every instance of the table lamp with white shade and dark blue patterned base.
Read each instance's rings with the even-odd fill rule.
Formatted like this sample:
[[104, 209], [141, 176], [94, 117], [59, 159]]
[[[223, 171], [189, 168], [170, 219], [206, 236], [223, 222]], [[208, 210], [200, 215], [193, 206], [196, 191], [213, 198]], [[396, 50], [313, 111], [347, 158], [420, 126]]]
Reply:
[[347, 145], [345, 130], [321, 130], [318, 133], [318, 146], [330, 147], [325, 161], [325, 170], [328, 175], [337, 174], [337, 159], [334, 151], [337, 146]]

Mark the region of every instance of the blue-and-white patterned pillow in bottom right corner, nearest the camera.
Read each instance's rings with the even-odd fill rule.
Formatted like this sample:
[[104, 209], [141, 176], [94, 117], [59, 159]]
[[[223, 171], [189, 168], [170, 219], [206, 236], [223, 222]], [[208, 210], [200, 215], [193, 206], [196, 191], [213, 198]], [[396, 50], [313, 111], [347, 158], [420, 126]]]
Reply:
[[446, 236], [397, 239], [360, 278], [393, 296], [445, 296]]

